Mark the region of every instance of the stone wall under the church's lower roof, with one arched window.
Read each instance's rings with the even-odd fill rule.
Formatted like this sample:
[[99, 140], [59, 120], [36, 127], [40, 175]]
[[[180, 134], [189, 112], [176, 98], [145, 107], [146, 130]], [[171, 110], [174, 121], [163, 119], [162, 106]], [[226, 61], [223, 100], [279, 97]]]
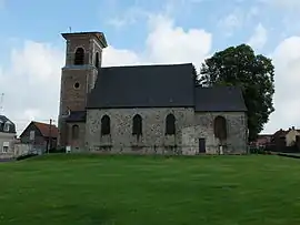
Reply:
[[239, 154], [247, 151], [247, 117], [243, 112], [204, 112], [194, 115], [194, 142], [206, 139], [206, 150], [209, 154], [217, 154], [220, 141], [213, 134], [214, 117], [221, 115], [227, 120], [227, 147], [224, 154]]

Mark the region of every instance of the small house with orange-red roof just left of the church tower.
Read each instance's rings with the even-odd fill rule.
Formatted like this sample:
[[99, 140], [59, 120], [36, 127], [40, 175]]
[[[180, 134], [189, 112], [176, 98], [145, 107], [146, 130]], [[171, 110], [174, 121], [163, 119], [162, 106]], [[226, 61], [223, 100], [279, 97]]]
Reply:
[[21, 144], [28, 144], [33, 150], [46, 152], [48, 149], [57, 147], [58, 127], [47, 123], [32, 121], [21, 133]]

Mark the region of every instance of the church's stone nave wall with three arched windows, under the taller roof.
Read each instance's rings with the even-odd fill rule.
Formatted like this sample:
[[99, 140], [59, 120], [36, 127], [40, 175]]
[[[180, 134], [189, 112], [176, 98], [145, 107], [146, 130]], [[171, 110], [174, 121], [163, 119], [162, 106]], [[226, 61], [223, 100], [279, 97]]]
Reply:
[[[166, 136], [166, 116], [169, 113], [176, 116], [176, 135]], [[101, 136], [101, 117], [104, 114], [110, 116], [111, 133]], [[132, 135], [136, 114], [142, 117], [142, 135], [139, 137]], [[184, 108], [88, 110], [87, 149], [113, 153], [182, 154], [182, 144], [191, 144], [190, 139], [182, 143], [182, 136], [186, 135], [184, 129], [192, 126], [193, 117], [193, 109]]]

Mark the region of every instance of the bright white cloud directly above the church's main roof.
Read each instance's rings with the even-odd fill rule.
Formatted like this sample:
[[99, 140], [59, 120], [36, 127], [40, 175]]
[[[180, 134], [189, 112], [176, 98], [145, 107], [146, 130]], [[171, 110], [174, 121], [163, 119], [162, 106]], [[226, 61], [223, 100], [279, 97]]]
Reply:
[[212, 35], [204, 30], [184, 31], [162, 16], [150, 19], [150, 29], [147, 49], [153, 62], [200, 64], [210, 52]]

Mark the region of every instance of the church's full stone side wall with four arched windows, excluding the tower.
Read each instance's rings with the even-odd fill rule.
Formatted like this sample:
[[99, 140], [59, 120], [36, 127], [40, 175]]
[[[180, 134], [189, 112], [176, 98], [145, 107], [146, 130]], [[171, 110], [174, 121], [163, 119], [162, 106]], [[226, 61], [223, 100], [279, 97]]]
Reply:
[[[176, 135], [166, 136], [166, 116], [176, 116]], [[111, 120], [110, 135], [101, 136], [101, 117]], [[132, 119], [142, 116], [142, 136], [132, 135]], [[213, 121], [218, 115], [227, 120], [224, 154], [241, 154], [247, 150], [247, 117], [242, 112], [194, 113], [193, 109], [119, 109], [88, 110], [86, 147], [89, 151], [136, 154], [199, 153], [199, 139], [206, 140], [206, 153], [219, 154], [220, 142], [214, 137]]]

